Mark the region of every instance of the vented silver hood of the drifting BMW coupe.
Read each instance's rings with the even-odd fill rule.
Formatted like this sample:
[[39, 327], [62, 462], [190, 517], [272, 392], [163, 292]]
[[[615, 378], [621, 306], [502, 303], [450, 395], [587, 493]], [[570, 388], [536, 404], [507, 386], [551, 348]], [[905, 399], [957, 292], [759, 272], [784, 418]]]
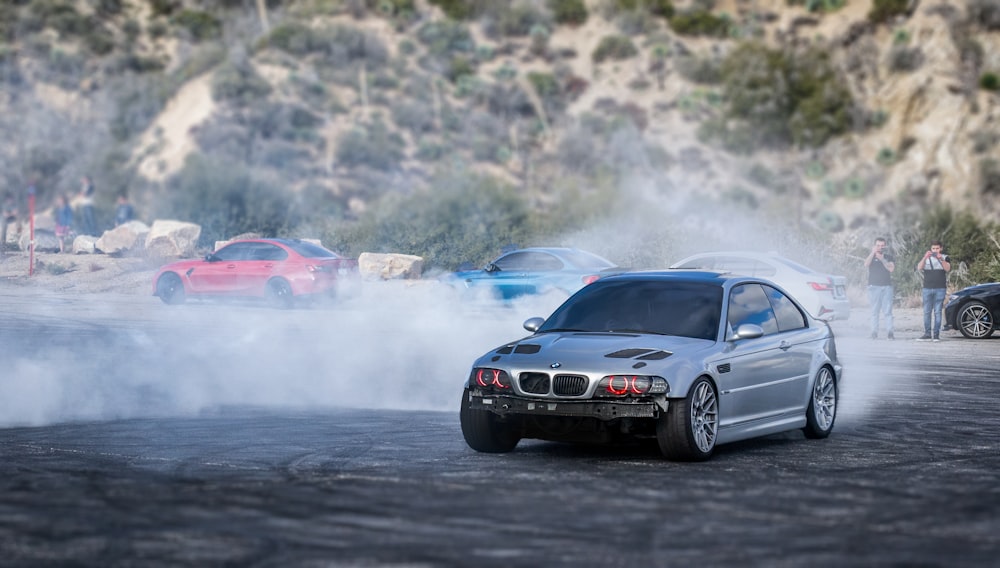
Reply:
[[477, 366], [503, 363], [567, 371], [582, 367], [588, 372], [612, 373], [621, 372], [624, 367], [641, 368], [714, 344], [705, 339], [640, 333], [539, 333], [490, 351], [480, 358]]

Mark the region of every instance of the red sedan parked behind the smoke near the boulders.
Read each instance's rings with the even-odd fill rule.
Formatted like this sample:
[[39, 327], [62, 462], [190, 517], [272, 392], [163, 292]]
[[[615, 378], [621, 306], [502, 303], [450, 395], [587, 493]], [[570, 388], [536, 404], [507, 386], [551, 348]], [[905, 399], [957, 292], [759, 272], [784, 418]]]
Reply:
[[264, 298], [291, 307], [300, 297], [330, 297], [357, 279], [358, 261], [297, 239], [234, 241], [203, 260], [160, 268], [153, 295], [179, 304], [187, 297]]

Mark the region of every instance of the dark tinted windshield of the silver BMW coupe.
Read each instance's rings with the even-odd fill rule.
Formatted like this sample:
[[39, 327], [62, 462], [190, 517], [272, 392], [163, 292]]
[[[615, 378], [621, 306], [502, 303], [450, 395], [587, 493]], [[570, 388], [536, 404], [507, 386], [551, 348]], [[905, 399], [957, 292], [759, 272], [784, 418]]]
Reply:
[[538, 332], [640, 332], [715, 341], [721, 318], [718, 284], [599, 280], [567, 300]]

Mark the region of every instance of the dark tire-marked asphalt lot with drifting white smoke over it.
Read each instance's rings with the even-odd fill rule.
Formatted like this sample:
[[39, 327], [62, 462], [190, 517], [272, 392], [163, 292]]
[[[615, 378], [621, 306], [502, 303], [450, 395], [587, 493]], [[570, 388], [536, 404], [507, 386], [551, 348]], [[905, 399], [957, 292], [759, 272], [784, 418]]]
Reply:
[[465, 446], [467, 365], [534, 310], [427, 291], [282, 312], [0, 288], [7, 565], [984, 566], [1000, 336], [835, 323], [833, 436]]

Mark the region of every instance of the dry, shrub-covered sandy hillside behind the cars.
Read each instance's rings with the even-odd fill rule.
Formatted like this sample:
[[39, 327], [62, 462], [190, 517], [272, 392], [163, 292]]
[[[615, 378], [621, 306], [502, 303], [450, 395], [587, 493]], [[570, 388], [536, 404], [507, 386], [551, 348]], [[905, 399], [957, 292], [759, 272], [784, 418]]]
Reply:
[[[520, 200], [513, 218], [528, 225], [609, 211], [649, 223], [657, 204], [654, 219], [711, 219], [699, 230], [725, 211], [853, 243], [938, 205], [1000, 218], [1000, 6], [988, 0], [2, 10], [0, 127], [17, 134], [0, 143], [0, 175], [7, 188], [35, 179], [45, 207], [90, 173], [105, 217], [128, 192], [148, 219], [194, 220], [209, 241], [309, 230], [341, 244], [401, 199], [474, 177], [455, 191], [499, 193], [463, 206]], [[526, 234], [431, 251], [384, 228], [350, 236], [448, 264]]]

